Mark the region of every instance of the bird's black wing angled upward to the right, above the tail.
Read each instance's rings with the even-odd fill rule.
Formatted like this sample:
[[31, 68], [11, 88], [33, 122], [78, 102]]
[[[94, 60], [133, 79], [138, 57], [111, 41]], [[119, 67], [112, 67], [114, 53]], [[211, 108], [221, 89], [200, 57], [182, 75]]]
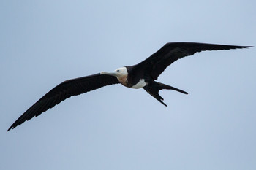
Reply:
[[137, 66], [143, 66], [144, 68], [146, 66], [145, 69], [151, 73], [151, 77], [157, 80], [157, 77], [164, 72], [167, 66], [170, 66], [171, 63], [185, 56], [205, 50], [230, 50], [246, 47], [249, 46], [214, 45], [197, 42], [169, 42], [145, 61], [138, 63]]

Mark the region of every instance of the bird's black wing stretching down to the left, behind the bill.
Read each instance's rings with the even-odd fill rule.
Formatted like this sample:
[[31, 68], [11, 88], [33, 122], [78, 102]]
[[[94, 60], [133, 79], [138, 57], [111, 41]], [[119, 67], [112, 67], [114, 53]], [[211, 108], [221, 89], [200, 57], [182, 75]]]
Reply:
[[24, 112], [23, 115], [21, 115], [7, 131], [10, 131], [10, 129], [15, 128], [26, 120], [30, 120], [34, 116], [40, 115], [42, 112], [54, 107], [66, 98], [86, 93], [91, 90], [96, 90], [97, 88], [102, 88], [105, 85], [118, 83], [119, 82], [116, 77], [105, 74], [93, 74], [86, 77], [79, 77], [64, 81], [46, 93], [45, 96], [42, 96], [42, 98]]

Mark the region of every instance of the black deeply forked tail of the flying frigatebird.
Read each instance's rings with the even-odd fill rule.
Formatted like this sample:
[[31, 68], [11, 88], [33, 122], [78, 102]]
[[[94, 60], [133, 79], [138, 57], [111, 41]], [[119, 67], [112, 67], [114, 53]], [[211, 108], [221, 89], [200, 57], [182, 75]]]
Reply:
[[176, 90], [180, 93], [184, 93], [184, 94], [188, 94], [186, 91], [184, 90], [180, 90], [178, 88], [173, 88], [170, 85], [165, 85], [161, 82], [151, 82], [148, 85], [146, 85], [144, 87], [144, 90], [146, 90], [146, 92], [148, 92], [151, 96], [153, 96], [154, 98], [156, 98], [161, 104], [165, 105], [165, 107], [167, 107], [167, 105], [163, 102], [164, 98], [162, 98], [159, 95], [159, 90]]

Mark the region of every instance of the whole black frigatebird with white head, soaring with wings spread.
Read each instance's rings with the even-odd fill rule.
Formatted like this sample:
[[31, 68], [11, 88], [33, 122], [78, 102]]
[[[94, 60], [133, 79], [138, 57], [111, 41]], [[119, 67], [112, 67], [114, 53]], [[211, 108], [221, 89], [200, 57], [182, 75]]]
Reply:
[[171, 63], [201, 51], [230, 50], [247, 47], [252, 46], [214, 45], [197, 42], [169, 42], [149, 58], [134, 66], [124, 66], [116, 69], [114, 72], [100, 72], [98, 74], [61, 82], [61, 84], [50, 90], [45, 96], [42, 96], [39, 101], [24, 112], [7, 131], [24, 123], [26, 120], [30, 120], [34, 116], [40, 115], [42, 112], [54, 107], [66, 98], [96, 90], [97, 88], [102, 88], [106, 85], [118, 83], [121, 83], [121, 85], [124, 85], [127, 88], [143, 88], [151, 96], [161, 102], [161, 104], [167, 107], [163, 102], [164, 99], [159, 96], [159, 90], [176, 90], [180, 93], [188, 94], [184, 90], [173, 88], [170, 85], [155, 81]]

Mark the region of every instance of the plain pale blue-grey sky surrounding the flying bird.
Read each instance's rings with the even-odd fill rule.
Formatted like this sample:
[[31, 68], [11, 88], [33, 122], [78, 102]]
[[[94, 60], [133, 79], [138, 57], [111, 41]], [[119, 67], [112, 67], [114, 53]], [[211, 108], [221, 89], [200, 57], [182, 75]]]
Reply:
[[111, 85], [7, 131], [64, 80], [166, 42], [256, 45], [256, 1], [1, 1], [0, 169], [256, 169], [256, 48], [196, 53], [144, 90]]

